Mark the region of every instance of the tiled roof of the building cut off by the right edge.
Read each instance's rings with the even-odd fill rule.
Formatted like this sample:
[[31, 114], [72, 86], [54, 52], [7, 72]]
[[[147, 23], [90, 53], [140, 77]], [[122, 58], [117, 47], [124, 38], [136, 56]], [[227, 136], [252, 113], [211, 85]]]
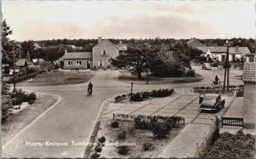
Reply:
[[243, 82], [256, 82], [256, 62], [246, 62], [243, 67]]

